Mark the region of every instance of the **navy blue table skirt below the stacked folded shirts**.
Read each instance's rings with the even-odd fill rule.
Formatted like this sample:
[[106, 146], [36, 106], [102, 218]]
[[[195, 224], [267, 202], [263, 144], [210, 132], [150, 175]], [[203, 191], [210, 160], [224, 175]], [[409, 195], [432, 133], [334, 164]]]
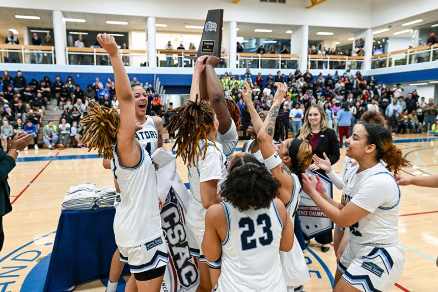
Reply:
[[[116, 250], [116, 209], [62, 211], [50, 257], [44, 292], [60, 292], [79, 282], [107, 278]], [[124, 273], [129, 273], [125, 265]]]

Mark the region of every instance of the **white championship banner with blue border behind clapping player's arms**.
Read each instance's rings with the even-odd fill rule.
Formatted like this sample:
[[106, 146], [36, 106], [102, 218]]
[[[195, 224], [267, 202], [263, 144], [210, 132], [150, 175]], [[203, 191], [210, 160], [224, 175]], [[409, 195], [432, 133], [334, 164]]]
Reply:
[[[313, 179], [316, 180], [316, 173], [306, 170], [305, 174], [307, 176], [312, 175]], [[321, 179], [324, 193], [333, 198], [332, 181], [323, 175], [318, 175]], [[303, 229], [303, 232], [307, 237], [312, 238], [316, 235], [333, 229], [332, 220], [322, 213], [309, 195], [301, 190], [299, 192], [299, 197], [300, 200], [297, 214], [299, 215], [299, 220], [301, 221], [301, 229]]]

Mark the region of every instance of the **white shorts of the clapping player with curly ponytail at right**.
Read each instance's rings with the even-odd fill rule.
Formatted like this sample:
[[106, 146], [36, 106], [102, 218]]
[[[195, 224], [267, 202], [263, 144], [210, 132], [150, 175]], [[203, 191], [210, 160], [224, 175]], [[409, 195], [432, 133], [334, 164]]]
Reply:
[[349, 242], [338, 263], [342, 278], [363, 292], [385, 292], [403, 272], [406, 256], [399, 244], [367, 246]]

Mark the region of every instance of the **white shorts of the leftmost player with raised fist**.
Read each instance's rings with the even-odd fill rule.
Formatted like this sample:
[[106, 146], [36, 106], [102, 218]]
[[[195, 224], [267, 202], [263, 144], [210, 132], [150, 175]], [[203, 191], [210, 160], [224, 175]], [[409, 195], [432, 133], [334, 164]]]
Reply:
[[131, 273], [142, 273], [169, 263], [165, 237], [161, 235], [141, 246], [120, 247], [120, 261], [129, 264]]

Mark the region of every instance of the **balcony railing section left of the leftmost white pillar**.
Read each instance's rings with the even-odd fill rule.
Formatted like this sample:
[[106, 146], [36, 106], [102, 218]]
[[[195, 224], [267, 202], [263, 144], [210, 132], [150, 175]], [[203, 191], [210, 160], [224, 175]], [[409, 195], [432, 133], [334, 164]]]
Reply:
[[54, 47], [0, 44], [0, 62], [54, 64]]

